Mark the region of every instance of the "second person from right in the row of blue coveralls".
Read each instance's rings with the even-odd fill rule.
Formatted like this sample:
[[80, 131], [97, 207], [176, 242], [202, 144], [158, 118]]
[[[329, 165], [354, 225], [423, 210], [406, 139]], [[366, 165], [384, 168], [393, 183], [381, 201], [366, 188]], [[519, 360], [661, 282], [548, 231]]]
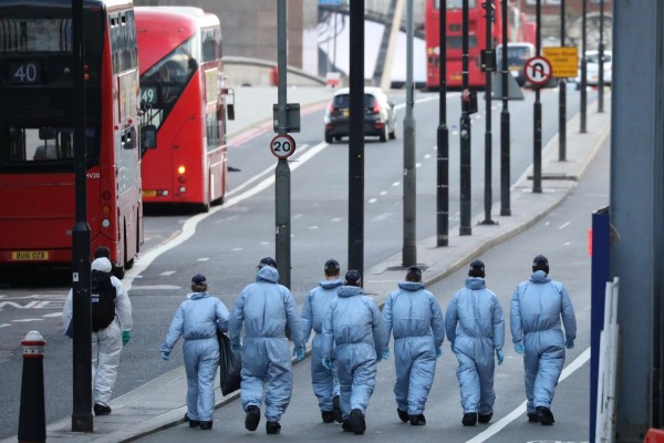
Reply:
[[498, 364], [505, 359], [502, 308], [485, 277], [484, 262], [473, 260], [464, 288], [452, 297], [445, 313], [447, 340], [458, 361], [465, 426], [488, 423], [494, 416], [494, 353]]

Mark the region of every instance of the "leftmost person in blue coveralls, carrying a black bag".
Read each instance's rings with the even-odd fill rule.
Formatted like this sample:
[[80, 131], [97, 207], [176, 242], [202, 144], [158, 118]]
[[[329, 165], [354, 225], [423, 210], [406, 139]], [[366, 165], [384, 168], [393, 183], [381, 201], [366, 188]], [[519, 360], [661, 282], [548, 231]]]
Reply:
[[164, 343], [162, 359], [168, 360], [177, 340], [183, 337], [187, 373], [187, 412], [189, 427], [212, 429], [215, 410], [215, 375], [219, 368], [217, 330], [228, 330], [229, 313], [217, 297], [208, 293], [205, 276], [191, 278], [191, 293], [177, 308]]

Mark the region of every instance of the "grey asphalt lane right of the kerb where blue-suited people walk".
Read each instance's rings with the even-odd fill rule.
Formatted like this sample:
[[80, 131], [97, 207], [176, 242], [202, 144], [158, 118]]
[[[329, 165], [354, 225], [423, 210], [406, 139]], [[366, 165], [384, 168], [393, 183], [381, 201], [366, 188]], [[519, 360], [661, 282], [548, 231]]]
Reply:
[[[510, 240], [490, 249], [480, 258], [487, 267], [487, 282], [501, 302], [506, 315], [506, 361], [497, 367], [495, 388], [497, 401], [495, 415], [488, 425], [463, 426], [459, 389], [456, 379], [456, 359], [448, 343], [438, 360], [434, 387], [428, 398], [426, 426], [401, 423], [392, 392], [394, 358], [378, 365], [377, 384], [367, 410], [365, 442], [439, 442], [449, 443], [580, 443], [589, 440], [589, 357], [590, 357], [590, 265], [588, 229], [591, 214], [609, 202], [609, 147], [603, 146], [596, 159], [587, 169], [571, 195], [541, 222]], [[509, 303], [513, 289], [530, 276], [532, 257], [546, 254], [551, 266], [551, 277], [562, 281], [574, 305], [578, 339], [568, 351], [552, 404], [553, 426], [528, 423], [525, 410], [523, 369], [521, 357], [513, 352], [509, 332]], [[466, 270], [432, 285], [432, 290], [445, 309], [452, 295], [461, 287]], [[243, 427], [245, 414], [239, 401], [221, 406], [215, 412], [210, 432], [191, 430], [187, 424], [174, 426], [141, 439], [141, 442], [216, 442], [220, 439], [241, 441], [273, 441], [287, 439], [291, 443], [318, 441], [335, 442], [344, 434], [339, 424], [323, 424], [311, 391], [309, 359], [294, 365], [294, 388], [291, 403], [282, 416], [280, 436], [264, 433], [264, 418], [258, 431]], [[183, 393], [184, 395], [184, 393]], [[350, 436], [349, 436], [350, 435]]]

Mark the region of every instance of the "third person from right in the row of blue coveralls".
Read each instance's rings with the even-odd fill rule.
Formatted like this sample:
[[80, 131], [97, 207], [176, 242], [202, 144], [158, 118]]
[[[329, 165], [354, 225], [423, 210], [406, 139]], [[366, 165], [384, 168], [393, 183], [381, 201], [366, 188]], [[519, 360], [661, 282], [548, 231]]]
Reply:
[[402, 422], [424, 425], [424, 405], [434, 383], [436, 359], [445, 339], [438, 300], [424, 289], [422, 269], [411, 266], [383, 307], [385, 334], [394, 334], [394, 395]]

